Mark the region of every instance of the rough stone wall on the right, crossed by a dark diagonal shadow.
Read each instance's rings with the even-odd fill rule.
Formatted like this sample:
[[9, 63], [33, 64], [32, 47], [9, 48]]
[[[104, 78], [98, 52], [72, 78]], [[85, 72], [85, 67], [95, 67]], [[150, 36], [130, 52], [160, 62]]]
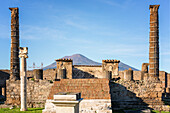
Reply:
[[162, 101], [165, 89], [162, 82], [118, 80], [110, 82], [110, 89], [114, 109], [168, 109], [168, 106], [164, 105], [164, 102]]

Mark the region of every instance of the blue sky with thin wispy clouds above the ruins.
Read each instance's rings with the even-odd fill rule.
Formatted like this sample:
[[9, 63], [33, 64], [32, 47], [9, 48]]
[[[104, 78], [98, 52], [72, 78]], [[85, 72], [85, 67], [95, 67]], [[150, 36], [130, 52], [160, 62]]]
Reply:
[[10, 67], [10, 10], [19, 7], [20, 46], [28, 66], [83, 54], [141, 69], [149, 62], [149, 5], [160, 4], [160, 70], [170, 72], [169, 0], [1, 0], [0, 69]]

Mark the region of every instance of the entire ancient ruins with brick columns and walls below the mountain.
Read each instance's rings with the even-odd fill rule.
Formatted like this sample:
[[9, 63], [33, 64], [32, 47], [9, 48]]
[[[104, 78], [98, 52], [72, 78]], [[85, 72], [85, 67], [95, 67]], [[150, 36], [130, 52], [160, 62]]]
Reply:
[[[69, 94], [81, 93], [83, 100], [80, 103], [77, 101], [80, 98], [74, 100], [79, 105], [71, 104], [72, 107], [76, 106], [76, 112], [80, 113], [112, 113], [114, 110], [132, 108], [170, 111], [170, 73], [159, 71], [158, 8], [159, 5], [149, 7], [149, 63], [142, 63], [141, 71], [134, 71], [131, 68], [119, 71], [120, 61], [115, 59], [102, 60], [102, 65], [73, 65], [72, 59], [57, 59], [56, 69], [29, 70], [27, 80], [26, 70], [22, 64], [21, 80], [19, 80], [18, 8], [10, 8], [12, 12], [11, 79], [4, 77], [0, 84], [4, 88], [3, 91], [6, 90], [6, 93], [3, 93], [6, 97], [5, 103], [23, 105], [23, 109], [26, 109], [26, 106], [45, 107], [44, 113], [49, 110], [56, 113], [56, 109], [63, 110], [57, 107], [63, 101], [61, 102], [59, 100], [61, 96], [56, 94], [64, 92], [61, 98], [69, 98]], [[22, 50], [26, 48], [21, 48], [21, 53]], [[21, 61], [24, 62], [23, 59]], [[9, 73], [8, 70], [4, 72]], [[26, 87], [27, 90], [24, 90]], [[64, 101], [68, 102], [68, 100]], [[68, 107], [68, 104], [64, 103], [64, 106]]]

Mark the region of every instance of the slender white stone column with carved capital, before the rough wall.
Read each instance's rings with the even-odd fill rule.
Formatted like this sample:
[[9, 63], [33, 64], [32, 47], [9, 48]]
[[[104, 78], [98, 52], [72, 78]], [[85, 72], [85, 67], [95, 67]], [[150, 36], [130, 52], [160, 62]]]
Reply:
[[20, 111], [27, 110], [27, 75], [26, 75], [26, 58], [28, 54], [27, 47], [20, 47], [19, 57], [21, 58], [21, 109]]

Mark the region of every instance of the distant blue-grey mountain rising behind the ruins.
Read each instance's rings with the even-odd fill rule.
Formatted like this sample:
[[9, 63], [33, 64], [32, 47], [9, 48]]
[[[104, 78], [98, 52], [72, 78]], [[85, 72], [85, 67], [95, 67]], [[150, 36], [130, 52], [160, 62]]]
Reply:
[[[73, 65], [102, 65], [102, 63], [99, 63], [99, 62], [95, 62], [81, 54], [74, 54], [72, 56], [65, 56], [63, 58], [68, 58], [68, 59], [72, 59], [73, 60]], [[46, 69], [53, 69], [53, 68], [56, 68], [56, 62], [44, 67], [43, 69], [46, 70]], [[120, 71], [123, 71], [123, 70], [127, 70], [131, 68], [132, 70], [134, 71], [138, 71], [138, 69], [134, 68], [134, 67], [131, 67], [127, 64], [124, 64], [123, 62], [120, 62], [119, 63], [119, 70]]]

